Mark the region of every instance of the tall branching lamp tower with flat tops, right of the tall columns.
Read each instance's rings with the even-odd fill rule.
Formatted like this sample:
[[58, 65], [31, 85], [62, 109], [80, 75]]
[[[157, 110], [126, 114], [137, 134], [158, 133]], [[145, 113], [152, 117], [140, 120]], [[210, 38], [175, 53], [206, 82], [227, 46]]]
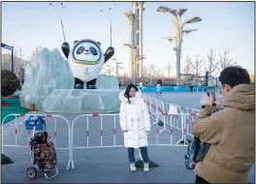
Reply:
[[176, 36], [175, 37], [168, 37], [167, 39], [172, 42], [174, 39], [176, 40], [176, 47], [174, 47], [174, 50], [176, 51], [176, 85], [180, 84], [180, 58], [181, 58], [181, 44], [182, 44], [182, 37], [183, 34], [188, 34], [193, 31], [197, 31], [197, 29], [187, 29], [184, 30], [184, 25], [187, 23], [194, 23], [198, 21], [202, 21], [202, 18], [199, 16], [195, 16], [192, 18], [187, 19], [183, 23], [180, 22], [180, 17], [183, 15], [187, 9], [171, 9], [168, 7], [161, 6], [157, 9], [157, 12], [161, 13], [170, 13], [172, 15], [175, 15], [176, 20], [174, 21], [176, 25]]

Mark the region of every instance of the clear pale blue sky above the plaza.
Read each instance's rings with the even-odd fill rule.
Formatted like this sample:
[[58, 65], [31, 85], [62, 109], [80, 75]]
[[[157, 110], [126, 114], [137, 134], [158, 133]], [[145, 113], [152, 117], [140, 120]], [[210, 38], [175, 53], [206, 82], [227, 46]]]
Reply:
[[[116, 4], [116, 5], [114, 5]], [[129, 21], [123, 14], [132, 10], [131, 2], [63, 2], [64, 8], [53, 9], [60, 3], [53, 2], [3, 2], [2, 42], [22, 48], [25, 58], [37, 46], [58, 48], [64, 42], [60, 17], [62, 15], [66, 41], [92, 39], [101, 43], [103, 51], [110, 46], [110, 20], [112, 20], [112, 46], [114, 58], [128, 67]], [[173, 66], [176, 75], [175, 43], [162, 37], [175, 36], [173, 15], [158, 13], [159, 6], [188, 9], [182, 21], [200, 16], [201, 22], [187, 24], [185, 28], [198, 29], [183, 38], [181, 70], [185, 58], [200, 55], [207, 65], [207, 54], [212, 47], [218, 55], [228, 50], [229, 57], [254, 74], [254, 3], [253, 2], [145, 2], [144, 3], [144, 65], [155, 65], [167, 72]], [[108, 12], [112, 7], [112, 11]], [[100, 10], [106, 9], [104, 13]], [[7, 52], [6, 50], [2, 50]], [[204, 68], [205, 69], [205, 68]]]

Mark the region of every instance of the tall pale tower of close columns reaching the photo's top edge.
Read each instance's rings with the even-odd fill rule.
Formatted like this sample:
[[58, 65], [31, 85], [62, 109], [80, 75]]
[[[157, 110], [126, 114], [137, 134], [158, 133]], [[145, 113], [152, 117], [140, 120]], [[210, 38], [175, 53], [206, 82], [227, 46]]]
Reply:
[[129, 19], [129, 44], [136, 47], [136, 49], [129, 48], [129, 77], [133, 77], [134, 60], [138, 61], [135, 65], [136, 77], [143, 77], [144, 61], [137, 60], [138, 57], [143, 56], [143, 5], [144, 2], [132, 2], [132, 11], [124, 13]]

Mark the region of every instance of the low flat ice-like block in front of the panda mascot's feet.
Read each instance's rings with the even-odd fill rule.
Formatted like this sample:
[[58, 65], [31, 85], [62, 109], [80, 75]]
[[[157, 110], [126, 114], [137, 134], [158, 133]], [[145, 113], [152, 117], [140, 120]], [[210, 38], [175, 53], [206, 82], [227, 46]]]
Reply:
[[37, 110], [58, 113], [118, 112], [120, 101], [116, 89], [54, 89], [48, 96], [21, 94], [21, 107], [35, 103]]

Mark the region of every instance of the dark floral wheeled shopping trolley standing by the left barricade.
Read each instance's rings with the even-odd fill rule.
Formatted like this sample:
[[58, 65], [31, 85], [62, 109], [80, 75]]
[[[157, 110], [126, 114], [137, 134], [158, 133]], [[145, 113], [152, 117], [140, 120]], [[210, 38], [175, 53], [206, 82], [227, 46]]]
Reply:
[[[42, 132], [35, 133], [38, 123], [42, 123]], [[56, 167], [56, 151], [51, 139], [46, 132], [46, 124], [42, 118], [38, 118], [33, 127], [32, 138], [29, 141], [31, 146], [30, 156], [33, 168], [27, 169], [27, 176], [30, 179], [37, 177], [37, 172], [44, 172], [47, 179], [52, 179], [58, 175], [58, 169]], [[48, 177], [48, 170], [55, 169], [55, 175]]]

